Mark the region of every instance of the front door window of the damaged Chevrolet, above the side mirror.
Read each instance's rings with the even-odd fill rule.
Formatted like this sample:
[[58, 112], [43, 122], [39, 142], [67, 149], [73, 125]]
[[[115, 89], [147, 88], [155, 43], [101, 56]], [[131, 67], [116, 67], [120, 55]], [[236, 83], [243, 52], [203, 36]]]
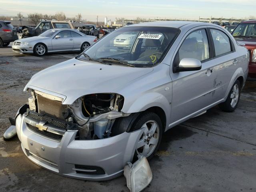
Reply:
[[210, 58], [205, 29], [194, 31], [186, 37], [176, 54], [175, 65], [177, 66], [183, 58], [193, 58], [200, 61]]

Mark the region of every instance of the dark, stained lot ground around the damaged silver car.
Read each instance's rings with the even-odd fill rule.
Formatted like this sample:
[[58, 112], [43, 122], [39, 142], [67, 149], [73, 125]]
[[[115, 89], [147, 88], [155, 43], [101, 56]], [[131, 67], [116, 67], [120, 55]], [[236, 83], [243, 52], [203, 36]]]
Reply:
[[[8, 117], [28, 101], [23, 88], [36, 72], [74, 58], [76, 53], [1, 55], [0, 50], [0, 191], [128, 192], [123, 176], [92, 182], [58, 176], [32, 163], [20, 141], [5, 142]], [[167, 131], [150, 161], [153, 180], [144, 191], [256, 191], [256, 80], [247, 80], [235, 112], [218, 106]]]

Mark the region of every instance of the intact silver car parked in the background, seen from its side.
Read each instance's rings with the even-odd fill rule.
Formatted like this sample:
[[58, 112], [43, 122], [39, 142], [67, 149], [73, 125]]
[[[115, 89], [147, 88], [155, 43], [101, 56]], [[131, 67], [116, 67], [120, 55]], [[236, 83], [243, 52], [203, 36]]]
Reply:
[[44, 56], [50, 52], [82, 52], [96, 41], [96, 37], [85, 35], [77, 30], [50, 29], [38, 36], [14, 41], [12, 50], [20, 53], [34, 53], [37, 56]]

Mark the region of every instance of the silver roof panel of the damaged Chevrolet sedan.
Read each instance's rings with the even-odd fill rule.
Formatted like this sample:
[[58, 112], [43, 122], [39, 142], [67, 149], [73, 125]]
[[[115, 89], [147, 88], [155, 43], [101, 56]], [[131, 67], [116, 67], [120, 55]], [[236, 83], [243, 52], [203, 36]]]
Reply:
[[145, 22], [145, 23], [133, 24], [125, 27], [155, 26], [155, 27], [181, 28], [182, 26], [186, 26], [186, 25], [203, 26], [203, 25], [214, 25], [214, 24], [204, 23], [204, 22], [192, 22], [192, 21], [160, 21], [160, 22]]

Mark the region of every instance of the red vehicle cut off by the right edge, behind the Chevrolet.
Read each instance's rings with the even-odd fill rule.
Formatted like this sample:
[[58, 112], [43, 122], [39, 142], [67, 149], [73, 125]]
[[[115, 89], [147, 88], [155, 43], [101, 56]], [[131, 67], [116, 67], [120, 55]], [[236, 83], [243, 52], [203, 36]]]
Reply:
[[256, 20], [242, 21], [233, 30], [234, 38], [243, 42], [250, 53], [249, 77], [256, 78]]

